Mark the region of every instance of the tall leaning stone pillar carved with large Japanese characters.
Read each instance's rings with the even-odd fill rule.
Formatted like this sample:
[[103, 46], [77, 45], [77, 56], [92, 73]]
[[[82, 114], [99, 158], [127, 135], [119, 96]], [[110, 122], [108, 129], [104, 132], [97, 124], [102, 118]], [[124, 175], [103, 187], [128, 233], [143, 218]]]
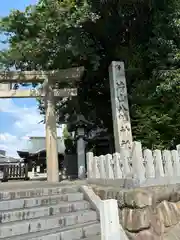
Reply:
[[120, 152], [121, 147], [132, 147], [131, 122], [123, 62], [113, 61], [111, 63], [109, 79], [115, 151]]

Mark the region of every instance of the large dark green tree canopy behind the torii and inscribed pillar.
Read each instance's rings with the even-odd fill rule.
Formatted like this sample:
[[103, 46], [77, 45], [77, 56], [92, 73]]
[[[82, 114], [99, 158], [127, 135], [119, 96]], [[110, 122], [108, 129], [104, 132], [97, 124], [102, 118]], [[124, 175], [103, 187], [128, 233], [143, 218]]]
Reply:
[[81, 112], [112, 133], [108, 66], [124, 61], [134, 139], [150, 148], [180, 143], [178, 0], [40, 0], [0, 26], [9, 44], [3, 68], [85, 67], [78, 98], [56, 104], [60, 122]]

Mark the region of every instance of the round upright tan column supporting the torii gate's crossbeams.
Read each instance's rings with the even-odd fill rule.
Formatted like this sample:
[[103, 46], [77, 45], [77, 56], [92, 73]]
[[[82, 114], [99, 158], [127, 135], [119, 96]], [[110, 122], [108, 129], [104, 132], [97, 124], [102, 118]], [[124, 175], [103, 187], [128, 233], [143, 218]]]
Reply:
[[47, 181], [59, 182], [55, 103], [53, 89], [50, 85], [46, 88], [45, 102]]

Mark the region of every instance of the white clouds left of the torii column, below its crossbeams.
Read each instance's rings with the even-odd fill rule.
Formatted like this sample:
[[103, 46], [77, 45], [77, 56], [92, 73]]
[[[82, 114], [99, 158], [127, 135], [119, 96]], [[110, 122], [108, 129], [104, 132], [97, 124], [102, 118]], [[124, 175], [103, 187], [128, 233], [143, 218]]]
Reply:
[[[30, 136], [45, 136], [44, 124], [39, 124], [43, 116], [40, 115], [37, 106], [17, 106], [12, 99], [0, 99], [0, 112], [7, 113], [14, 119], [11, 126], [15, 135], [11, 132], [0, 133], [0, 149], [6, 150], [7, 155], [17, 157], [17, 150], [27, 147]], [[62, 130], [58, 129], [58, 136], [62, 136]]]

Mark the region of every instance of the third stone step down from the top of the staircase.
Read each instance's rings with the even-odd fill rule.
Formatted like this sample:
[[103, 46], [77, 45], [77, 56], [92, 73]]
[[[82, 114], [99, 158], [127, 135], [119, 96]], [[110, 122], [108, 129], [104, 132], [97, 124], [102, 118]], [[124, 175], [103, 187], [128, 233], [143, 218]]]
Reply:
[[87, 201], [75, 201], [75, 202], [61, 202], [60, 204], [25, 208], [17, 210], [7, 210], [0, 212], [0, 223], [7, 223], [13, 221], [22, 221], [33, 218], [53, 216], [56, 214], [77, 212], [80, 210], [90, 209], [90, 204]]

